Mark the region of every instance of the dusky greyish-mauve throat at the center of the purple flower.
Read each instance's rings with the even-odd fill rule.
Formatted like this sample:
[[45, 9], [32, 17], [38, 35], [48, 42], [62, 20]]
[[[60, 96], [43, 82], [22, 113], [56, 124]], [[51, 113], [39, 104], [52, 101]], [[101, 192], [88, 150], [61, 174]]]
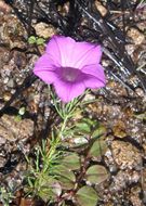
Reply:
[[77, 68], [71, 67], [63, 67], [62, 68], [62, 77], [66, 81], [76, 81], [77, 77], [79, 76], [80, 70]]

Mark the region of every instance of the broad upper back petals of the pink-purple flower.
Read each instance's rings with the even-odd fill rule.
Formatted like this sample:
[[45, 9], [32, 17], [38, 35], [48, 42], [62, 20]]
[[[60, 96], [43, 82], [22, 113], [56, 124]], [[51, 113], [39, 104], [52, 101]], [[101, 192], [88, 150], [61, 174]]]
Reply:
[[47, 52], [63, 67], [81, 68], [88, 64], [98, 64], [102, 57], [101, 46], [77, 42], [70, 37], [53, 36]]

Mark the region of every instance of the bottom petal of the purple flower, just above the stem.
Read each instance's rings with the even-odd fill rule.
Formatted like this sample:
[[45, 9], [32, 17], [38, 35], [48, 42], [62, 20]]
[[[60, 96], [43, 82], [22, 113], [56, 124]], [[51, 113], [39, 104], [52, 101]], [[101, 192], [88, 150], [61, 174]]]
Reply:
[[54, 82], [55, 91], [61, 100], [65, 103], [74, 100], [78, 95], [82, 94], [85, 90], [83, 82], [67, 82], [67, 81], [55, 81]]

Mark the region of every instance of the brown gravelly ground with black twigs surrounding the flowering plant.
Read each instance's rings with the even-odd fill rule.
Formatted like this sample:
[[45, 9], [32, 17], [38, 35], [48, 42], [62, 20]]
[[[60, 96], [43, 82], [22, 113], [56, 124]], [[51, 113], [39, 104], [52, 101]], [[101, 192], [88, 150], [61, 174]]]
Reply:
[[[61, 119], [48, 86], [31, 75], [44, 44], [28, 42], [28, 38], [41, 37], [48, 41], [59, 34], [99, 42], [104, 50], [106, 88], [87, 94], [84, 99], [92, 100], [91, 103], [79, 107], [82, 113], [71, 119], [75, 123], [85, 116], [104, 130], [104, 153], [89, 158], [91, 164], [104, 166], [108, 173], [93, 185], [98, 195], [97, 205], [143, 206], [146, 203], [146, 3], [136, 0], [5, 2], [0, 1], [1, 201], [5, 197], [4, 189], [14, 195], [10, 205], [47, 205], [36, 197], [35, 201], [25, 197], [24, 178], [29, 169], [25, 155], [32, 156], [36, 145], [50, 138], [54, 125], [59, 128]], [[72, 143], [76, 143], [74, 137], [63, 141], [70, 151]], [[67, 197], [65, 204], [79, 204], [70, 199]], [[59, 201], [54, 205], [59, 205]]]

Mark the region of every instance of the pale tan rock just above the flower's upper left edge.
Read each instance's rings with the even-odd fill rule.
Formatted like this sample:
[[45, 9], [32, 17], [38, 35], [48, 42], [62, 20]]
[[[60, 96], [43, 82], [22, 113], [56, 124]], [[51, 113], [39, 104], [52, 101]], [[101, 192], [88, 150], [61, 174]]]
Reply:
[[34, 27], [36, 29], [36, 34], [44, 39], [48, 39], [56, 34], [56, 29], [52, 25], [42, 22], [36, 24]]

